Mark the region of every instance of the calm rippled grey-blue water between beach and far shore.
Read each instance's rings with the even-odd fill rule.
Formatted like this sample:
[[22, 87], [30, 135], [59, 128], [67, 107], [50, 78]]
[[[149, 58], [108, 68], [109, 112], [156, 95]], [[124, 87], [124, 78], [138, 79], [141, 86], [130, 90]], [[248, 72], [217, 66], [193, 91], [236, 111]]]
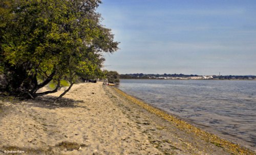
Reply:
[[121, 80], [119, 89], [256, 150], [256, 81]]

